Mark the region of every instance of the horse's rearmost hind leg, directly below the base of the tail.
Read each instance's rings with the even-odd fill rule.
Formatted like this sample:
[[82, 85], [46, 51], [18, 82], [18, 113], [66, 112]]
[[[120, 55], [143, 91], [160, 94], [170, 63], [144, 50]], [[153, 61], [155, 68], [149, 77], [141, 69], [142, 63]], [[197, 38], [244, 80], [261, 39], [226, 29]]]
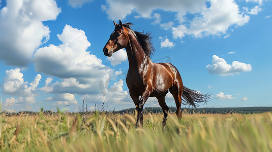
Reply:
[[172, 86], [171, 88], [169, 88], [170, 93], [173, 95], [175, 103], [176, 103], [176, 117], [178, 119], [178, 121], [180, 121], [182, 119], [182, 89], [178, 89], [177, 86]]

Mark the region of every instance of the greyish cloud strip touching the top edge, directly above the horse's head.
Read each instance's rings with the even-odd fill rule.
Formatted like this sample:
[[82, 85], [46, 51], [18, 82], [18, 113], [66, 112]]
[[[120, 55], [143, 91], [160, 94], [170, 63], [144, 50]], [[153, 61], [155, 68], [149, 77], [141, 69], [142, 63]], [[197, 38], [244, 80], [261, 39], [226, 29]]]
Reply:
[[[205, 5], [205, 1], [126, 1], [126, 0], [107, 0], [106, 5], [102, 5], [102, 10], [108, 14], [108, 18], [112, 20], [125, 19], [132, 12], [139, 13], [139, 16], [151, 18], [154, 10], [163, 10], [176, 12], [177, 16], [185, 15], [187, 12], [195, 14]], [[144, 4], [144, 5], [143, 5]], [[183, 20], [183, 18], [178, 18]]]

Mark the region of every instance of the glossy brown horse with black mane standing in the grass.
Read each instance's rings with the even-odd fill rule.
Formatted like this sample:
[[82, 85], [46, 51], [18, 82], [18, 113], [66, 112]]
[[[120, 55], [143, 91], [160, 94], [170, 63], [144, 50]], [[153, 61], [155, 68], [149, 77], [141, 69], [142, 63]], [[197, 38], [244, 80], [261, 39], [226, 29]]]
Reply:
[[151, 43], [150, 33], [133, 31], [130, 28], [132, 23], [122, 24], [120, 20], [119, 24], [114, 23], [114, 25], [114, 31], [111, 33], [103, 52], [106, 56], [111, 56], [119, 49], [126, 48], [129, 60], [126, 82], [138, 112], [136, 126], [142, 127], [143, 125], [142, 110], [148, 97], [158, 99], [164, 113], [163, 126], [166, 124], [169, 109], [165, 103], [168, 90], [174, 97], [175, 113], [179, 121], [182, 118], [182, 110], [180, 109], [182, 100], [185, 101], [183, 104], [193, 107], [196, 107], [199, 102], [206, 103], [209, 100], [210, 95], [202, 95], [184, 87], [178, 70], [172, 64], [152, 62], [150, 55], [155, 50]]

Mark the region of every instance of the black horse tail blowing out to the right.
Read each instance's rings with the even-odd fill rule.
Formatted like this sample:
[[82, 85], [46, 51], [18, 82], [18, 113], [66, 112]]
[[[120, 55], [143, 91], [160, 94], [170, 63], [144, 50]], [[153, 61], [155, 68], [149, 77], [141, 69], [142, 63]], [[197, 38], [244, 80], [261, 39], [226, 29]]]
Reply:
[[210, 100], [210, 97], [211, 94], [201, 94], [183, 86], [182, 100], [186, 102], [183, 103], [185, 105], [189, 104], [189, 106], [192, 105], [196, 108], [199, 106], [198, 103], [200, 102], [207, 103]]

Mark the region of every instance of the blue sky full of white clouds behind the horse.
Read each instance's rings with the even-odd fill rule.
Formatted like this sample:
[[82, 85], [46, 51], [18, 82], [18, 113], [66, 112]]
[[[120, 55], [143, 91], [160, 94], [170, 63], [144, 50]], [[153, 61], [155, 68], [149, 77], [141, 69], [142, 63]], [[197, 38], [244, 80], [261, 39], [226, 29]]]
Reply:
[[[199, 107], [272, 106], [270, 0], [0, 0], [2, 110], [134, 107], [125, 49], [104, 56], [112, 21], [150, 32], [154, 62], [212, 97]], [[170, 93], [168, 106], [175, 106]], [[150, 97], [145, 107], [159, 107]], [[182, 107], [187, 107], [182, 105]]]

